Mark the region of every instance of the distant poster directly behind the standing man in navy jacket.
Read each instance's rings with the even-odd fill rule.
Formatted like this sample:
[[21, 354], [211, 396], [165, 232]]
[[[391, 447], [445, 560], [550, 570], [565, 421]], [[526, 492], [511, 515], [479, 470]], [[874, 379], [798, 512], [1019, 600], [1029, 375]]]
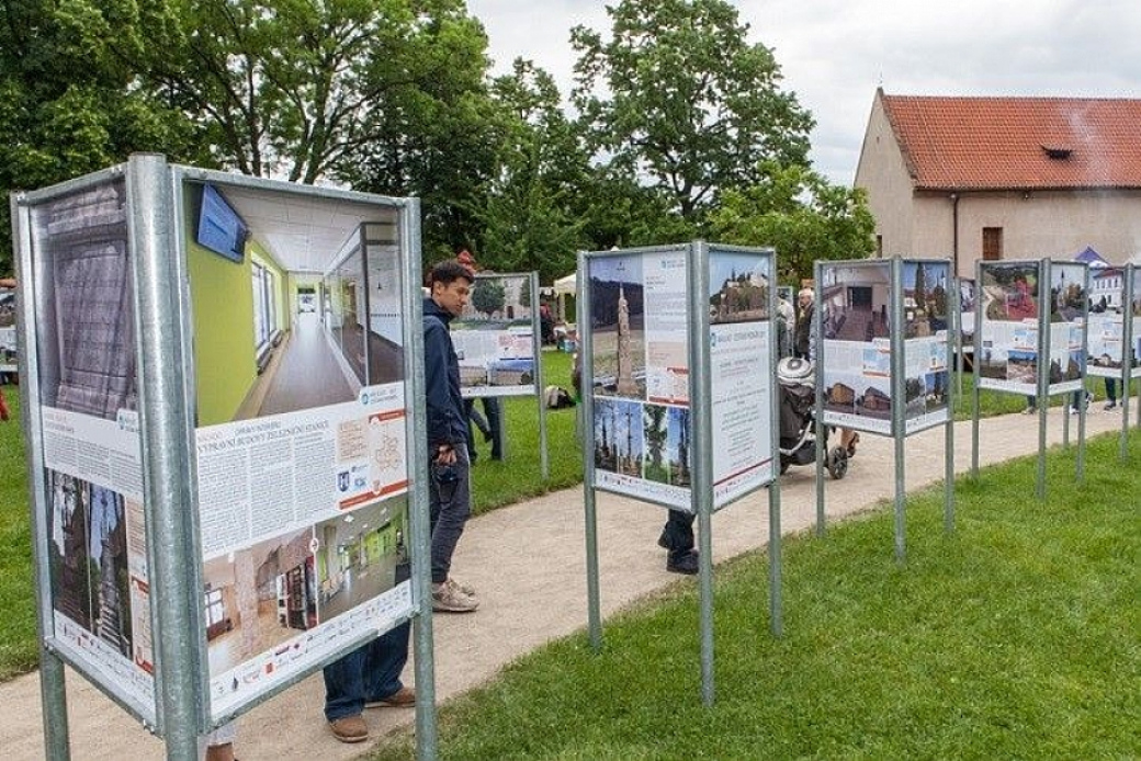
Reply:
[[532, 322], [531, 275], [478, 274], [463, 314], [452, 321], [464, 397], [539, 392], [539, 346]]

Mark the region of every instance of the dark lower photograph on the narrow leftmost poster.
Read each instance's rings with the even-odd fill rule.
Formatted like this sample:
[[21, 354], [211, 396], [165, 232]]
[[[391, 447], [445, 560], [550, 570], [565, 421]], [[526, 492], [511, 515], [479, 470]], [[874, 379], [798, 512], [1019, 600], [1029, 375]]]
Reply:
[[48, 471], [54, 608], [132, 657], [131, 582], [123, 495]]

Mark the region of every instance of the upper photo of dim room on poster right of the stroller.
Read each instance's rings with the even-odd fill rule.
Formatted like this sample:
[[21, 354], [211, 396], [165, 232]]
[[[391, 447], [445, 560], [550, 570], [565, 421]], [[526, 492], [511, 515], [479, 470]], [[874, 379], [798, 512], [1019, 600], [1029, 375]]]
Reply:
[[888, 338], [889, 262], [826, 266], [822, 280], [820, 309], [826, 340], [869, 342]]

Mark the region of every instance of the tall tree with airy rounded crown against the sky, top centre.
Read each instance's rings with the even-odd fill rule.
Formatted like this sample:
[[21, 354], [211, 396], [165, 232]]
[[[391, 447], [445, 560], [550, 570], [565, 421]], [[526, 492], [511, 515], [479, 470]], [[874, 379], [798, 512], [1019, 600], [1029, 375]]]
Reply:
[[[807, 164], [811, 116], [779, 89], [772, 51], [725, 0], [621, 0], [612, 37], [572, 31], [573, 100], [592, 145], [701, 221], [722, 188], [758, 181], [762, 160]], [[605, 92], [605, 95], [601, 95]]]

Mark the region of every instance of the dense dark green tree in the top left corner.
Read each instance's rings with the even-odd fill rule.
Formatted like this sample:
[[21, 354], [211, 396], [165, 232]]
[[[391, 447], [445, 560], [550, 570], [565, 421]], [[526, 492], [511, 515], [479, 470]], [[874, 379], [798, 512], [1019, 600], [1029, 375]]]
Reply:
[[[202, 130], [139, 86], [129, 63], [169, 26], [162, 0], [22, 0], [0, 5], [0, 191], [38, 188], [137, 151], [204, 162]], [[0, 275], [13, 269], [0, 204]]]

